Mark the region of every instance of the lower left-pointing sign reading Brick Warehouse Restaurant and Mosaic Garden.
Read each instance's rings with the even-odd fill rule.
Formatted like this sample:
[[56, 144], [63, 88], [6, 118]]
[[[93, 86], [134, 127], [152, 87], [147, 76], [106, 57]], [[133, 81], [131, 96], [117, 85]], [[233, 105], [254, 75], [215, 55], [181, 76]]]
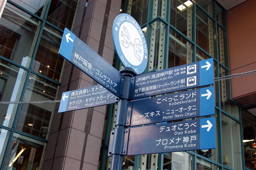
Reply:
[[61, 104], [58, 112], [84, 109], [89, 107], [112, 104], [119, 101], [113, 93], [101, 85], [90, 86], [62, 93]]

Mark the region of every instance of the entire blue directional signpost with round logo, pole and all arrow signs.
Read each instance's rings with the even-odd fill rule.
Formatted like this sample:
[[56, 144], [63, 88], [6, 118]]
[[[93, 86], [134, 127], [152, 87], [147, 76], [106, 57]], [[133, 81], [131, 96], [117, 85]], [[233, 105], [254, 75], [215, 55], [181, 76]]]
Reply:
[[126, 66], [120, 72], [64, 30], [59, 54], [101, 85], [64, 92], [58, 112], [119, 102], [109, 144], [111, 170], [122, 169], [124, 155], [215, 148], [214, 117], [134, 127], [213, 115], [213, 86], [146, 98], [213, 84], [213, 59], [136, 76], [148, 61], [140, 25], [130, 15], [119, 14], [112, 30], [116, 53]]

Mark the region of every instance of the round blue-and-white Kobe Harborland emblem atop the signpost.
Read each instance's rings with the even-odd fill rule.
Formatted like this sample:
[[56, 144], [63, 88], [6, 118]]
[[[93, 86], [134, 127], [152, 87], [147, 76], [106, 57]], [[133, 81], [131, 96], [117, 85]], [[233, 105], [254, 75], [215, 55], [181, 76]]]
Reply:
[[148, 63], [148, 47], [137, 21], [128, 14], [119, 14], [113, 23], [113, 42], [116, 53], [125, 67], [137, 74], [144, 72]]

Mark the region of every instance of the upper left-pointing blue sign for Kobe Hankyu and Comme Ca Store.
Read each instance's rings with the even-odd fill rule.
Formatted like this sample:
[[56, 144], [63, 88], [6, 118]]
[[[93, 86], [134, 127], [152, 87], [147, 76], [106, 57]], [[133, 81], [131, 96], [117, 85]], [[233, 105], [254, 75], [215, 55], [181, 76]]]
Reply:
[[122, 74], [67, 28], [64, 29], [59, 54], [119, 96]]

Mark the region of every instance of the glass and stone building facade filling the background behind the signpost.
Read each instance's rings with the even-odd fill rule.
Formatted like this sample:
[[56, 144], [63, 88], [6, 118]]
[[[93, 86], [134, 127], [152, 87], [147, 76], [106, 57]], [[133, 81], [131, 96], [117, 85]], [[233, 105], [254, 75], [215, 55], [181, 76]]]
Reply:
[[122, 69], [112, 40], [119, 13], [144, 32], [144, 73], [213, 58], [216, 120], [215, 149], [124, 156], [122, 169], [256, 170], [254, 6], [254, 0], [229, 8], [222, 0], [0, 1], [0, 170], [110, 169], [117, 104], [58, 113], [62, 92], [97, 84], [58, 49], [67, 27]]

